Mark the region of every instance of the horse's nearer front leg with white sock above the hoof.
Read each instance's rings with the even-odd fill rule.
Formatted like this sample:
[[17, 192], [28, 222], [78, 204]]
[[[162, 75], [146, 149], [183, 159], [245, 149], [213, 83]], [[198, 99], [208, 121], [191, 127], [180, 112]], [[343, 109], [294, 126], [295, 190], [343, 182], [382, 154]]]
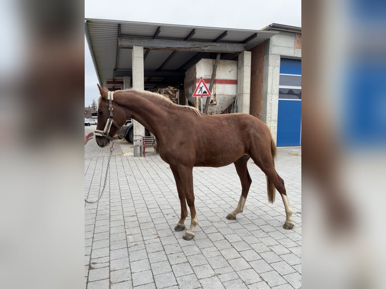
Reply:
[[182, 188], [182, 192], [186, 198], [187, 205], [190, 209], [190, 227], [186, 231], [185, 235], [183, 235], [182, 239], [191, 240], [195, 237], [195, 229], [199, 224], [196, 216], [196, 208], [195, 208], [195, 195], [193, 192], [193, 168], [192, 167], [179, 167], [178, 175], [180, 178], [180, 184]]

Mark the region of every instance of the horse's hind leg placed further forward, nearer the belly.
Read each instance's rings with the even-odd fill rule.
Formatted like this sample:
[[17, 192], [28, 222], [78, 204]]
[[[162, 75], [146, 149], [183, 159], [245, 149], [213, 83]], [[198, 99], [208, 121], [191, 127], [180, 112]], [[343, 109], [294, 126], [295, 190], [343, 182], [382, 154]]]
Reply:
[[248, 156], [242, 156], [240, 159], [234, 162], [236, 172], [241, 181], [241, 196], [240, 196], [240, 200], [238, 201], [237, 207], [226, 216], [226, 219], [228, 220], [235, 220], [236, 215], [242, 212], [244, 209], [245, 200], [248, 195], [250, 184], [252, 183], [252, 180], [248, 173], [248, 168], [246, 166], [248, 160], [249, 160]]

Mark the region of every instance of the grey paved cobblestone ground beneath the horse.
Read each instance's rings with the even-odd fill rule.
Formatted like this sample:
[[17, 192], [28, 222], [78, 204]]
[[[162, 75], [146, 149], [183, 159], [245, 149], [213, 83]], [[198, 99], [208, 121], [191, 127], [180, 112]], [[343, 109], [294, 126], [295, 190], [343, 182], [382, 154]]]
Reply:
[[[85, 133], [94, 129], [85, 127]], [[225, 219], [241, 194], [234, 166], [194, 168], [199, 226], [192, 241], [173, 230], [180, 215], [177, 189], [168, 165], [152, 150], [138, 158], [125, 140], [114, 144], [105, 193], [99, 203], [85, 205], [85, 288], [301, 287], [301, 147], [278, 148], [276, 159], [293, 230], [282, 228], [280, 194], [268, 203], [265, 175], [249, 161], [252, 185], [235, 221]], [[108, 154], [94, 138], [85, 146], [90, 200], [103, 185]]]

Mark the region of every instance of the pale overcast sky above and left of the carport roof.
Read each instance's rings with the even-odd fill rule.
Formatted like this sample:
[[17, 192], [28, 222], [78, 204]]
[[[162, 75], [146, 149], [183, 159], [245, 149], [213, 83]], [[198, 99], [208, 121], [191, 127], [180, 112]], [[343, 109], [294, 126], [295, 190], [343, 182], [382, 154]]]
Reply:
[[[301, 0], [85, 0], [85, 18], [238, 29], [271, 23], [301, 27]], [[98, 99], [97, 83], [85, 39], [85, 106]]]

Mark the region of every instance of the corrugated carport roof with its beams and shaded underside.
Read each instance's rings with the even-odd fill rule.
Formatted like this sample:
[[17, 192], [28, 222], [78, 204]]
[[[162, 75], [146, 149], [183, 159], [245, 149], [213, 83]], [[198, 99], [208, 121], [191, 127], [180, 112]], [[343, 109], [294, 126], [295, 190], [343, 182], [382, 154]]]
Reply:
[[85, 19], [85, 33], [100, 85], [120, 88], [132, 76], [133, 45], [144, 46], [145, 89], [183, 84], [185, 71], [201, 58], [232, 59], [277, 31], [213, 28]]

